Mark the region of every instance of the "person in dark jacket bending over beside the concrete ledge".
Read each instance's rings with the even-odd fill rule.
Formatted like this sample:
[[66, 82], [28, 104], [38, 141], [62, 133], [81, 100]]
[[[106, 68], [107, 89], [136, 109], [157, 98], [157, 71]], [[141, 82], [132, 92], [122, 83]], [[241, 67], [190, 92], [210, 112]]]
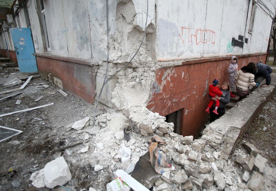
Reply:
[[260, 85], [262, 80], [265, 79], [265, 86], [269, 86], [271, 82], [271, 76], [272, 69], [269, 65], [263, 64], [263, 63], [257, 63], [256, 64], [256, 73], [255, 73], [255, 82], [257, 83], [257, 87]]

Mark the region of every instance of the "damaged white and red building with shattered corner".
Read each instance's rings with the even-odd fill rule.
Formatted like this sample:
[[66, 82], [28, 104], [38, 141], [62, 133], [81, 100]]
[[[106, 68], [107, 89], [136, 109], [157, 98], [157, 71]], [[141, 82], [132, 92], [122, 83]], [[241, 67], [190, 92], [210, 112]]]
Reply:
[[[114, 75], [100, 103], [124, 113], [134, 106], [147, 107], [173, 122], [175, 133], [194, 137], [208, 120], [208, 86], [213, 79], [228, 81], [231, 56], [239, 59], [239, 69], [266, 60], [276, 10], [275, 0], [11, 4], [5, 13], [9, 19], [2, 17], [1, 54], [18, 62], [21, 72], [17, 55], [25, 49], [14, 46], [13, 39], [17, 29], [29, 28], [31, 72], [89, 103], [98, 99], [105, 77]], [[23, 41], [19, 43], [25, 46]]]

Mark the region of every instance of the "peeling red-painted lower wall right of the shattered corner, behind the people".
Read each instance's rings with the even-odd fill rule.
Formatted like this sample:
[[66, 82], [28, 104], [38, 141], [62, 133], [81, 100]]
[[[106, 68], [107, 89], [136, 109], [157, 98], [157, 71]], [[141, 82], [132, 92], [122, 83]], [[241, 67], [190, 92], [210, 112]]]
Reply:
[[[237, 56], [238, 69], [249, 62], [265, 62], [266, 54]], [[147, 108], [162, 116], [181, 109], [180, 134], [197, 134], [208, 120], [205, 112], [210, 99], [208, 86], [214, 79], [228, 81], [228, 66], [231, 56], [207, 58], [183, 62], [183, 65], [160, 68], [156, 71], [156, 83]], [[208, 84], [206, 85], [206, 81]], [[207, 91], [207, 92], [206, 92]]]

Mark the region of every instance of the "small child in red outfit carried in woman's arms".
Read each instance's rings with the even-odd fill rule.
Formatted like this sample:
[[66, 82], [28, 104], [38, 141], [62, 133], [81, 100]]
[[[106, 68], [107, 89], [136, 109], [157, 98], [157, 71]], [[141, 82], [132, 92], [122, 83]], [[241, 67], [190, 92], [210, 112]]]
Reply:
[[[214, 80], [213, 80], [213, 85], [210, 85], [210, 86], [209, 86], [209, 95], [210, 95], [212, 98], [214, 98], [216, 95], [217, 95], [218, 97], [221, 97], [222, 92], [221, 92], [221, 89], [220, 89], [218, 86], [219, 86], [218, 80], [214, 79]], [[219, 107], [219, 100], [217, 99], [215, 102], [216, 102], [216, 105], [215, 105], [216, 107], [215, 107], [215, 109], [213, 110], [213, 112], [214, 112], [215, 114], [218, 115], [217, 109], [218, 109], [218, 107]], [[205, 111], [206, 111], [207, 113], [209, 113], [209, 114], [210, 114], [210, 108], [212, 107], [213, 103], [214, 103], [214, 100], [211, 99], [211, 100], [209, 101], [209, 104], [208, 104], [207, 109], [205, 110]]]

